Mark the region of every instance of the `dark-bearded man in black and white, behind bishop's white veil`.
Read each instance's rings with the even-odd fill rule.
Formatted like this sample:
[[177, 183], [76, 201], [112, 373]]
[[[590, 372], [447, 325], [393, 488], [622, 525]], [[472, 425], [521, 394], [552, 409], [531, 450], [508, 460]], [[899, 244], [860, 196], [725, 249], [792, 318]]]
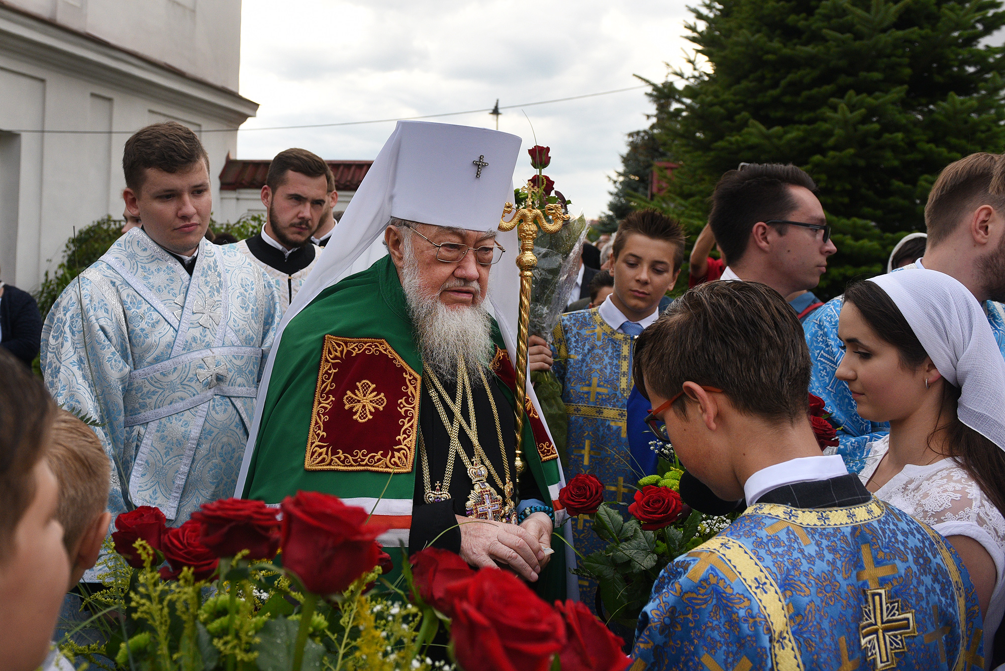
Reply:
[[261, 187], [265, 224], [235, 246], [275, 284], [282, 312], [321, 256], [312, 240], [334, 191], [332, 169], [306, 149], [279, 152], [268, 166]]

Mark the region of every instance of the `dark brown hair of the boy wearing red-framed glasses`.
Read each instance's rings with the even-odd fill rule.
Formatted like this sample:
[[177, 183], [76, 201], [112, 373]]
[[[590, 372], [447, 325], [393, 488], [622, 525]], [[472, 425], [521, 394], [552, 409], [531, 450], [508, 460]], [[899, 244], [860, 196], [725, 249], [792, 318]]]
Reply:
[[[635, 341], [632, 373], [644, 395], [672, 399], [693, 382], [773, 422], [809, 412], [803, 328], [785, 298], [760, 282], [707, 282], [684, 293]], [[673, 410], [686, 414], [683, 397]]]

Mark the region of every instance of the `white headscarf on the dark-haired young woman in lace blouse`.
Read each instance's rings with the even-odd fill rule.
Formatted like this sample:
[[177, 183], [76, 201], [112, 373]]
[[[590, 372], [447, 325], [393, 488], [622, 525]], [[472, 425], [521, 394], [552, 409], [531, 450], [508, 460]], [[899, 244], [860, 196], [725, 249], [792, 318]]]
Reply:
[[869, 281], [900, 309], [946, 382], [961, 388], [960, 421], [1005, 450], [1005, 360], [970, 289], [945, 273], [923, 268]]

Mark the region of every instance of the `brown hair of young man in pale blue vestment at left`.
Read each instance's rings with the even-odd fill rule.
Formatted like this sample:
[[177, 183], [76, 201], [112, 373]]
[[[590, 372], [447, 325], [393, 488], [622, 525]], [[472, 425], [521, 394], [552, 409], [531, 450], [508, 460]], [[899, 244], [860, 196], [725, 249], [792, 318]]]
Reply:
[[123, 150], [126, 186], [139, 194], [143, 187], [144, 171], [148, 168], [177, 173], [199, 161], [206, 162], [208, 174], [209, 155], [191, 129], [178, 122], [151, 124], [126, 141], [126, 148]]

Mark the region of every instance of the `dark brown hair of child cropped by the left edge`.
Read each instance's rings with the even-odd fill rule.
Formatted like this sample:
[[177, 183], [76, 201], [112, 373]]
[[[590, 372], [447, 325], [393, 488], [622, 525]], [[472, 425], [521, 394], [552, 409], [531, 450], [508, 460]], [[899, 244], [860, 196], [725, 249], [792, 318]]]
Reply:
[[20, 360], [0, 348], [0, 564], [13, 553], [14, 529], [35, 497], [35, 464], [55, 404]]

